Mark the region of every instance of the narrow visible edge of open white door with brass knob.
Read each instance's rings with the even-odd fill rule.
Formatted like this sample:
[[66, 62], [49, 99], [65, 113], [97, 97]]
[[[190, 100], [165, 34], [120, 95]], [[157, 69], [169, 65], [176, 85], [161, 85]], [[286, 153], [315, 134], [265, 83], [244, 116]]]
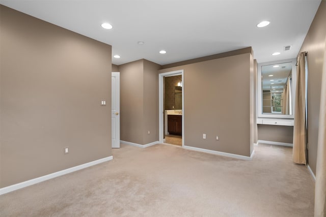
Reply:
[[120, 148], [120, 72], [112, 73], [112, 147]]

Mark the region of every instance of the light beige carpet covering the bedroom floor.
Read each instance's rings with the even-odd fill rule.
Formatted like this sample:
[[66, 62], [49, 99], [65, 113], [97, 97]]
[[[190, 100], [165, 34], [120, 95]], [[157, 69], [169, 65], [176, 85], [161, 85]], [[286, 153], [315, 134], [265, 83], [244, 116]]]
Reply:
[[1, 216], [313, 216], [314, 181], [292, 149], [242, 161], [170, 145], [121, 145], [114, 160], [0, 197]]

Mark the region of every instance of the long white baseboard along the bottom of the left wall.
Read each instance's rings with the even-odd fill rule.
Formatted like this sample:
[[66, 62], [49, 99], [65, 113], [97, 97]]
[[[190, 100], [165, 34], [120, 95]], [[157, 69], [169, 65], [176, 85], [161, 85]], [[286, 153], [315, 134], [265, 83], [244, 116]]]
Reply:
[[44, 176], [41, 176], [41, 177], [37, 177], [37, 178], [33, 178], [33, 179], [30, 179], [30, 180], [27, 180], [27, 181], [23, 181], [23, 182], [20, 182], [20, 183], [17, 183], [17, 184], [9, 185], [8, 187], [0, 189], [0, 195], [7, 194], [9, 192], [16, 191], [18, 189], [22, 189], [22, 188], [28, 187], [30, 185], [33, 185], [33, 184], [36, 184], [36, 183], [39, 183], [39, 182], [42, 182], [42, 181], [46, 181], [48, 179], [55, 178], [55, 177], [58, 177], [58, 176], [62, 176], [62, 175], [65, 175], [65, 174], [68, 174], [68, 173], [71, 173], [71, 172], [74, 172], [74, 171], [77, 171], [77, 170], [81, 170], [81, 169], [84, 169], [84, 168], [87, 168], [87, 167], [91, 167], [91, 166], [94, 166], [96, 164], [100, 164], [100, 163], [103, 163], [103, 162], [106, 162], [106, 161], [111, 161], [112, 159], [113, 159], [113, 156], [109, 156], [109, 157], [102, 158], [102, 159], [99, 159], [99, 160], [96, 160], [96, 161], [92, 161], [92, 162], [89, 162], [89, 163], [86, 163], [86, 164], [78, 165], [78, 166], [71, 167], [71, 168], [61, 170], [61, 171], [58, 171], [58, 172], [54, 172], [54, 173], [51, 173], [51, 174], [48, 174], [48, 175], [44, 175]]

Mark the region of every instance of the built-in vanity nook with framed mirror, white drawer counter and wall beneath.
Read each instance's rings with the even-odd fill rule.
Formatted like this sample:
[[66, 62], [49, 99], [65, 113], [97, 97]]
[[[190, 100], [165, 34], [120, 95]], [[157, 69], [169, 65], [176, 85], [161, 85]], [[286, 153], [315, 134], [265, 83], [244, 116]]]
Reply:
[[292, 146], [296, 59], [258, 64], [257, 142]]

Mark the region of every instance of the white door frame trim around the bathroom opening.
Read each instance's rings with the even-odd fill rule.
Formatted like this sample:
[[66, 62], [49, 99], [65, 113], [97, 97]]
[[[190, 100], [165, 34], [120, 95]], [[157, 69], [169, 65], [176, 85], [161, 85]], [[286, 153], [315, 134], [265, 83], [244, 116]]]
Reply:
[[164, 143], [164, 77], [171, 77], [181, 75], [181, 82], [182, 82], [182, 147], [184, 146], [184, 77], [183, 77], [183, 69], [172, 71], [172, 72], [165, 72], [158, 74], [158, 141], [159, 143]]

